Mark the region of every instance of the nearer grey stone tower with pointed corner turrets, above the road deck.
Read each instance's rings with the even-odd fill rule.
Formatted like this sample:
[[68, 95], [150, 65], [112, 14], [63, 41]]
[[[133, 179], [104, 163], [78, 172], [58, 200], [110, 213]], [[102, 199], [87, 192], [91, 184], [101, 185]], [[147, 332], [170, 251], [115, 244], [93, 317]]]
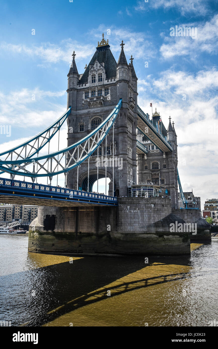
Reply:
[[[131, 63], [127, 63], [121, 43], [121, 53], [118, 62], [110, 51], [108, 40], [103, 38], [90, 60], [85, 72], [79, 74], [75, 63], [75, 52], [68, 73], [67, 107], [71, 106], [68, 116], [68, 146], [88, 135], [114, 109], [122, 98], [122, 107], [114, 125], [114, 144], [112, 129], [99, 147], [99, 157], [118, 158], [119, 167], [114, 168], [114, 190], [112, 188], [112, 166], [107, 167], [107, 177], [110, 178], [109, 194], [127, 195], [127, 187], [137, 178], [136, 164], [136, 128], [137, 128], [137, 77]], [[89, 188], [87, 188], [88, 160], [79, 168], [79, 188], [92, 191], [97, 180], [96, 166], [97, 150], [89, 159]], [[103, 158], [102, 158], [103, 157]], [[101, 161], [99, 179], [105, 178], [105, 167]], [[115, 162], [116, 164], [116, 162]], [[77, 169], [67, 173], [67, 186], [77, 187]]]

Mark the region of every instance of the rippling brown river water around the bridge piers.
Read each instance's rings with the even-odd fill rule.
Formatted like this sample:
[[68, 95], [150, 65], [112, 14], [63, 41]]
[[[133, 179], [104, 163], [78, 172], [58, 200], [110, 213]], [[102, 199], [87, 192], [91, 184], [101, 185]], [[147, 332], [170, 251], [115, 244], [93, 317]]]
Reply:
[[27, 251], [0, 236], [0, 321], [11, 326], [218, 324], [218, 238], [183, 257], [86, 257]]

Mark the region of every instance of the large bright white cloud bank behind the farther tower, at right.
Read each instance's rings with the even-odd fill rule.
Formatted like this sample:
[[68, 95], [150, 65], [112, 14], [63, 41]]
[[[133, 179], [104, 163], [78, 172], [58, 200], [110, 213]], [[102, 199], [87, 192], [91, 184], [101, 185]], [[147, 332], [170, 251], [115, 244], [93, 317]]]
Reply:
[[141, 109], [151, 116], [152, 102], [166, 128], [169, 115], [175, 122], [183, 191], [193, 188], [194, 194], [201, 196], [202, 208], [206, 198], [218, 196], [217, 89], [215, 68], [197, 74], [169, 69], [157, 79], [147, 76], [138, 80]]

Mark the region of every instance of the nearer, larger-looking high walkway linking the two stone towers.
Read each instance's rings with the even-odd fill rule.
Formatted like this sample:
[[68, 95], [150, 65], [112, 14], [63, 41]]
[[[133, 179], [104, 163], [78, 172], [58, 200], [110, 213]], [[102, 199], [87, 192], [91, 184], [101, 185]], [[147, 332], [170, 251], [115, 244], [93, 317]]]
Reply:
[[153, 123], [147, 119], [145, 113], [137, 105], [138, 124], [137, 127], [150, 141], [162, 151], [173, 151], [171, 144], [167, 139], [157, 131]]

